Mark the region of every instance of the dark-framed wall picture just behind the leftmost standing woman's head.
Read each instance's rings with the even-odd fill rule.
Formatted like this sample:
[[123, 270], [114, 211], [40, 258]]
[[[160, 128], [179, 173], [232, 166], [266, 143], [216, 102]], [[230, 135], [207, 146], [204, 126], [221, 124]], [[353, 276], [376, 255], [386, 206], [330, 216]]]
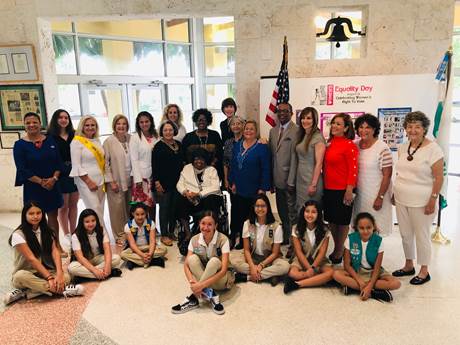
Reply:
[[23, 117], [28, 112], [42, 119], [42, 129], [47, 126], [43, 85], [0, 85], [0, 117], [3, 131], [23, 130]]

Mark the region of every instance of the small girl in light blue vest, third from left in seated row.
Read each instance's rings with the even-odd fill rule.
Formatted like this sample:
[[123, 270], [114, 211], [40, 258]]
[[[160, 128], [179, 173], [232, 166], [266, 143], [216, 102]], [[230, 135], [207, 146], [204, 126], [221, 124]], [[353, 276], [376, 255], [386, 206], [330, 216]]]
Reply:
[[142, 203], [136, 203], [130, 209], [131, 219], [125, 225], [127, 245], [121, 252], [121, 258], [126, 261], [126, 267], [132, 270], [135, 266], [165, 267], [163, 257], [167, 249], [157, 245], [155, 223], [147, 218], [148, 208]]

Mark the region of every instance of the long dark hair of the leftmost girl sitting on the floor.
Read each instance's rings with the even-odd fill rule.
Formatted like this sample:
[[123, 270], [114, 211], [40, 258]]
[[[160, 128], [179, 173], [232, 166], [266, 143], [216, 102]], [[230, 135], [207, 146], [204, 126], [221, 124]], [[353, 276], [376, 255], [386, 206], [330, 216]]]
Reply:
[[[37, 207], [42, 212], [42, 219], [38, 224], [38, 226], [40, 227], [41, 246], [40, 242], [38, 242], [38, 239], [33, 232], [32, 225], [29, 222], [27, 222], [27, 212], [32, 207]], [[48, 222], [46, 221], [45, 212], [37, 202], [29, 201], [24, 205], [21, 212], [21, 225], [19, 225], [16, 228], [16, 230], [18, 229], [21, 230], [24, 234], [27, 245], [29, 246], [32, 253], [34, 253], [34, 256], [37, 259], [42, 257], [48, 259], [44, 260], [45, 262], [53, 262], [51, 252], [53, 248], [53, 241], [55, 240], [55, 234], [54, 231], [49, 227]], [[11, 236], [8, 240], [8, 243], [11, 246]]]

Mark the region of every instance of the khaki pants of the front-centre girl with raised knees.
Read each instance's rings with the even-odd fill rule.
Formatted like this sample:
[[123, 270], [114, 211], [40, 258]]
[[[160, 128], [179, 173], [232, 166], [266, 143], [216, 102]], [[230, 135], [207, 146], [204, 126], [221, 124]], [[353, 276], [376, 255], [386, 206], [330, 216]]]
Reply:
[[[196, 254], [192, 254], [188, 257], [187, 263], [195, 279], [200, 282], [212, 277], [222, 268], [222, 262], [217, 257], [209, 259], [205, 267], [201, 262], [200, 257]], [[227, 271], [227, 274], [212, 284], [210, 288], [215, 290], [230, 289], [234, 282], [235, 277], [231, 272]]]

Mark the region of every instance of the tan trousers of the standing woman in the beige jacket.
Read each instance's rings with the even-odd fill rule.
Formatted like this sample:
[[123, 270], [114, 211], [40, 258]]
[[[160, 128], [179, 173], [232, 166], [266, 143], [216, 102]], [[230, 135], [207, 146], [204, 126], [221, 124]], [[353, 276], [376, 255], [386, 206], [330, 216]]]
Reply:
[[129, 187], [126, 192], [120, 190], [118, 193], [115, 193], [112, 188], [110, 188], [110, 183], [107, 183], [106, 190], [113, 237], [115, 238], [115, 242], [117, 240], [124, 241], [126, 238], [124, 228], [126, 221], [129, 219], [131, 187]]

